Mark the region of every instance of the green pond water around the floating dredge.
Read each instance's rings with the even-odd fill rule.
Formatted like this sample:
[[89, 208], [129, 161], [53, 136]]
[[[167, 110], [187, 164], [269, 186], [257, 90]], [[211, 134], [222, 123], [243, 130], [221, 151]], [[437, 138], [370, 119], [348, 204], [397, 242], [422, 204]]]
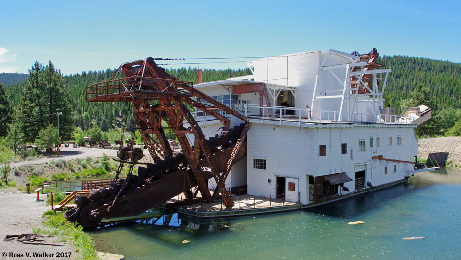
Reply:
[[[91, 231], [97, 250], [127, 260], [461, 259], [459, 169], [416, 173], [407, 185], [309, 210], [205, 223], [148, 214]], [[365, 223], [347, 224], [356, 220]]]

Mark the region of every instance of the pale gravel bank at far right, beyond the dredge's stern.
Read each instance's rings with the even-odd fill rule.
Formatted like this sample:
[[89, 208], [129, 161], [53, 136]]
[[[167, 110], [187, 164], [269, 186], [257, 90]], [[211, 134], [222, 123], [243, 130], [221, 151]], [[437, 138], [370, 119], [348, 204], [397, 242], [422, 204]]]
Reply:
[[461, 165], [461, 137], [437, 137], [418, 142], [418, 157], [427, 159], [429, 153], [448, 153], [448, 161]]

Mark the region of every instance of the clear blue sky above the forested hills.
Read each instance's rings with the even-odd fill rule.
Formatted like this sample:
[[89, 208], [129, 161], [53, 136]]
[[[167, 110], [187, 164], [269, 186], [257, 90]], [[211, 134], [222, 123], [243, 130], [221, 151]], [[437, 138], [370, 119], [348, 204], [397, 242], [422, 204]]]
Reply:
[[80, 0], [1, 6], [0, 72], [27, 73], [37, 60], [51, 60], [68, 75], [149, 56], [255, 57], [328, 48], [364, 53], [373, 47], [380, 55], [461, 62], [458, 1]]

